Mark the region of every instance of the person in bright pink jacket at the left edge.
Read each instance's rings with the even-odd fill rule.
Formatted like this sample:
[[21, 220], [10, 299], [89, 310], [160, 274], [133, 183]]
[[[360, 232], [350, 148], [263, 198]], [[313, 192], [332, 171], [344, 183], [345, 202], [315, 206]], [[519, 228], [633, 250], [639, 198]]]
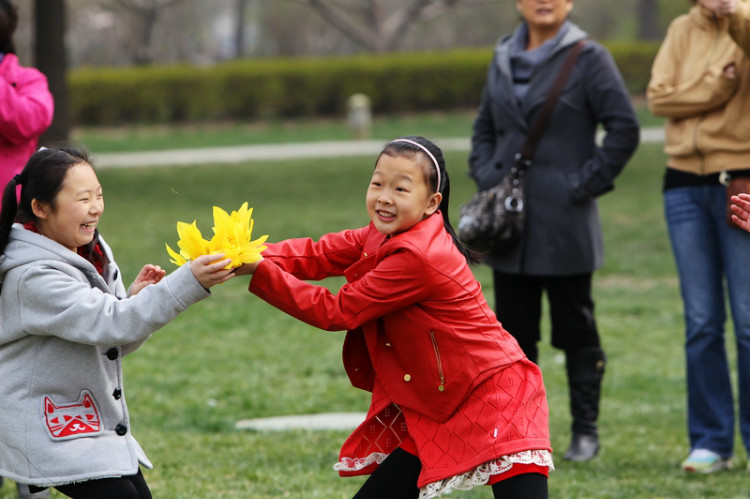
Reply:
[[54, 112], [47, 78], [18, 62], [17, 24], [16, 7], [0, 0], [0, 190], [21, 172]]

